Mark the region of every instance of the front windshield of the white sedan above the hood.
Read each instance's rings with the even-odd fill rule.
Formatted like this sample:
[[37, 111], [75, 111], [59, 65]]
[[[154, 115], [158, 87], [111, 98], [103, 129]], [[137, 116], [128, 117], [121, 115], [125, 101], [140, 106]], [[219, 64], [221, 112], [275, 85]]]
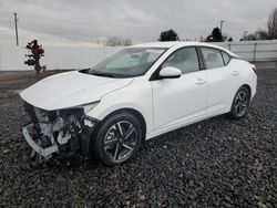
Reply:
[[164, 51], [157, 48], [127, 48], [100, 62], [88, 73], [110, 77], [143, 75]]

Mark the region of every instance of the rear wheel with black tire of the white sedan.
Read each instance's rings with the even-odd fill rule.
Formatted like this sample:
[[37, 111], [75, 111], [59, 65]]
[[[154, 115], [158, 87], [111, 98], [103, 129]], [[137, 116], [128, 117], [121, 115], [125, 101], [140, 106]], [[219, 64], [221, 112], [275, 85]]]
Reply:
[[240, 86], [234, 97], [229, 115], [234, 119], [244, 117], [250, 103], [250, 92], [246, 86]]

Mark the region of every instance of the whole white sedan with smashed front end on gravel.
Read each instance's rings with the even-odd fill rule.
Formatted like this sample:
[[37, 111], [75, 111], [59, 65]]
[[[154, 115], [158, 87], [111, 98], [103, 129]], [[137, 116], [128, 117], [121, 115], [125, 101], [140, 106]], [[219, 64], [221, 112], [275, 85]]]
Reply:
[[24, 90], [22, 132], [35, 163], [82, 153], [117, 165], [157, 135], [219, 114], [245, 116], [256, 84], [255, 66], [223, 48], [138, 44]]

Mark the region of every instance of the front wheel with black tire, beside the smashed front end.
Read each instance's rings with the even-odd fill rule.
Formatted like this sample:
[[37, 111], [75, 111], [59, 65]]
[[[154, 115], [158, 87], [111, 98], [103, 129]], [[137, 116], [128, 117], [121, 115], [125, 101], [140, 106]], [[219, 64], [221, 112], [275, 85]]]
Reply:
[[92, 143], [93, 155], [107, 166], [123, 164], [136, 154], [142, 136], [140, 121], [131, 113], [120, 112], [99, 127]]

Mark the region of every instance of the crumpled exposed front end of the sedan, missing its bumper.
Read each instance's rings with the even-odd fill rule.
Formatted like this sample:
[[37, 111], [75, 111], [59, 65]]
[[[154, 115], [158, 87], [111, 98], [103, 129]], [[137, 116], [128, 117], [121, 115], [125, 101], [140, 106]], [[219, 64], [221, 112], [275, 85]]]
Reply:
[[24, 118], [27, 124], [22, 133], [37, 163], [76, 153], [90, 154], [90, 141], [98, 121], [88, 117], [84, 108], [44, 111], [25, 102]]

